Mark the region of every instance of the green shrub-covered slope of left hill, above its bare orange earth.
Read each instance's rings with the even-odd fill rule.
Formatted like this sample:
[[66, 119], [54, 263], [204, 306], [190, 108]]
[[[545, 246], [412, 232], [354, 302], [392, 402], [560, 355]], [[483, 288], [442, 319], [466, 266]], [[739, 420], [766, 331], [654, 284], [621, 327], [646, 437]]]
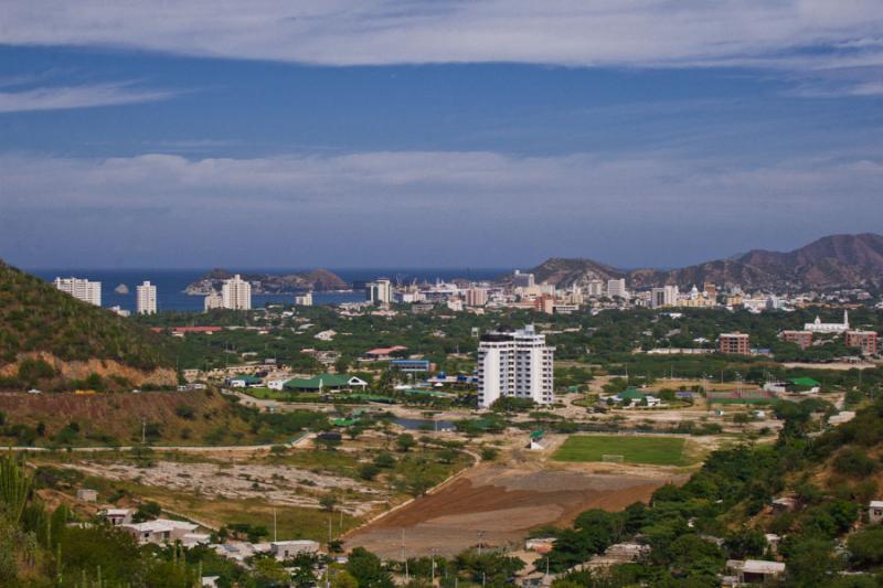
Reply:
[[114, 360], [149, 371], [173, 367], [171, 349], [162, 335], [0, 261], [0, 366], [45, 352], [65, 362]]

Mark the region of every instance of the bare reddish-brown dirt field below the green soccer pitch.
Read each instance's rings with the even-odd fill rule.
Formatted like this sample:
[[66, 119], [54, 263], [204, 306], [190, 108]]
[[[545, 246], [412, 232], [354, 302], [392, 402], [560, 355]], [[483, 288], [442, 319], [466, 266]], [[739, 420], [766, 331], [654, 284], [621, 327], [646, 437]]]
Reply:
[[[608, 464], [605, 464], [608, 466]], [[620, 468], [621, 471], [626, 471]], [[381, 557], [401, 558], [402, 532], [408, 557], [455, 555], [477, 545], [515, 546], [526, 532], [542, 525], [565, 525], [581, 512], [620, 510], [647, 500], [668, 481], [660, 471], [614, 473], [611, 468], [555, 468], [486, 464], [438, 492], [354, 532], [347, 547], [363, 546]]]

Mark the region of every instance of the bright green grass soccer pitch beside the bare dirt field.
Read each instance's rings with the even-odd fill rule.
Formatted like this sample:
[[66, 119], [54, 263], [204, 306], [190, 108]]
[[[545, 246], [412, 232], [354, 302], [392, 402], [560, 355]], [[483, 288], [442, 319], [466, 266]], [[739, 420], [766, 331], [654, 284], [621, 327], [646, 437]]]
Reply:
[[623, 456], [627, 463], [689, 466], [685, 441], [677, 437], [624, 437], [617, 435], [572, 435], [555, 451], [557, 461], [604, 461], [604, 456]]

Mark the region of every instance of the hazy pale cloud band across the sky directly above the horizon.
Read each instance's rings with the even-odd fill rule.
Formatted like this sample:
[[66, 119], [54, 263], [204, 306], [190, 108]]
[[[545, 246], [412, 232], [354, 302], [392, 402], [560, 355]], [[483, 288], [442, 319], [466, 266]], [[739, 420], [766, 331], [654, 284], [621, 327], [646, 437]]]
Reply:
[[[492, 266], [553, 254], [673, 265], [883, 223], [880, 153], [764, 164], [664, 153], [3, 156], [0, 177], [0, 253], [57, 244], [55, 261], [72, 264], [113, 261], [107, 244], [119, 242], [143, 244], [141, 263], [200, 266], [376, 265], [382, 255]], [[758, 232], [780, 240], [758, 242]], [[655, 246], [626, 252], [624, 239]], [[685, 239], [702, 245], [684, 249]]]

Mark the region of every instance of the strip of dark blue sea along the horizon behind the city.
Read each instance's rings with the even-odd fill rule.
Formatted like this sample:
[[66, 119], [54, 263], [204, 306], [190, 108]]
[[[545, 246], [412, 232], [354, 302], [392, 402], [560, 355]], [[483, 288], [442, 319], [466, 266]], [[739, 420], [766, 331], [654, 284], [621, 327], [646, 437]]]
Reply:
[[[379, 277], [386, 277], [393, 282], [411, 284], [417, 280], [422, 282], [435, 282], [436, 280], [451, 280], [464, 278], [468, 280], [481, 281], [492, 280], [504, 274], [511, 272], [508, 268], [444, 268], [444, 269], [418, 269], [418, 268], [360, 268], [360, 269], [331, 269], [344, 281], [349, 284], [363, 284]], [[86, 278], [102, 282], [102, 306], [105, 308], [120, 307], [124, 310], [135, 311], [135, 288], [145, 280], [157, 287], [157, 310], [178, 311], [178, 312], [202, 312], [202, 296], [190, 296], [184, 293], [184, 289], [199, 278], [208, 274], [208, 269], [30, 269], [26, 270], [34, 276], [52, 281], [60, 278]], [[309, 269], [231, 269], [237, 274], [296, 274], [310, 271]], [[129, 292], [117, 293], [116, 288], [120, 284], [125, 285]], [[312, 293], [315, 304], [340, 304], [343, 302], [360, 302], [365, 299], [363, 289], [341, 290], [341, 291], [317, 291]], [[294, 295], [253, 295], [252, 307], [260, 308], [268, 303], [292, 303]]]

